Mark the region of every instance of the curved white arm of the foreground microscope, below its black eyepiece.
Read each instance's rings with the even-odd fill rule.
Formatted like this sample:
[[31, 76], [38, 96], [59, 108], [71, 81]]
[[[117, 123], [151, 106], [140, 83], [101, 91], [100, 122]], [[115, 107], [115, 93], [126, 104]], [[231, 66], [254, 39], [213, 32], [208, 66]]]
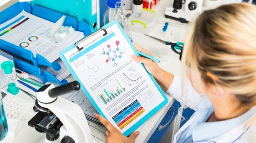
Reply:
[[81, 107], [67, 99], [58, 97], [56, 101], [48, 104], [39, 103], [40, 106], [51, 110], [63, 123], [66, 134], [60, 131], [60, 137], [68, 135], [76, 143], [93, 143], [88, 122]]

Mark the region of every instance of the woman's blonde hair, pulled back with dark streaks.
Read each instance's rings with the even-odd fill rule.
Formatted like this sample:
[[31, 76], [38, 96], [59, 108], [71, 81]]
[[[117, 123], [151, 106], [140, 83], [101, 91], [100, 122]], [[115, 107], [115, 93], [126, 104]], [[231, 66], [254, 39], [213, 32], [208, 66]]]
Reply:
[[245, 111], [255, 106], [256, 6], [237, 3], [204, 11], [187, 34], [182, 65], [182, 71], [190, 67], [192, 81], [229, 89]]

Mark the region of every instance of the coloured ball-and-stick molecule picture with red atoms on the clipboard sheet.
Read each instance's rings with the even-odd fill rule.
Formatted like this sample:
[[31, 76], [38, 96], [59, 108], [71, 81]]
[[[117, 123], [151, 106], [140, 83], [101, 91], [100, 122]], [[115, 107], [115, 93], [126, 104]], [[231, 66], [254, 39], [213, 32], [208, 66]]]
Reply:
[[[110, 45], [107, 45], [108, 51], [105, 52], [104, 48], [102, 48], [102, 53], [101, 55], [107, 55], [107, 59], [106, 62], [108, 63], [110, 60], [112, 60], [114, 62], [113, 67], [117, 67], [119, 64], [116, 63], [116, 58], [122, 58], [122, 54], [125, 53], [125, 51], [120, 51], [120, 49], [118, 48], [118, 45], [120, 44], [119, 41], [115, 41], [116, 44], [116, 49], [112, 50], [110, 48]], [[110, 57], [110, 54], [113, 56], [112, 58]], [[118, 55], [119, 54], [119, 55]]]

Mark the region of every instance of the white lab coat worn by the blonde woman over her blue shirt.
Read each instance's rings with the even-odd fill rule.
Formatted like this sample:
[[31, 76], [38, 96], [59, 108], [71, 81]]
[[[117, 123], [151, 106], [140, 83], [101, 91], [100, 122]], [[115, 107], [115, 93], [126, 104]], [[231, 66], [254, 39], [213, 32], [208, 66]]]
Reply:
[[[183, 95], [183, 103], [194, 109], [196, 112], [198, 111], [198, 105], [201, 102], [200, 94], [198, 94], [194, 88], [191, 86], [190, 82], [187, 80], [184, 83], [184, 95]], [[174, 77], [172, 85], [169, 87], [167, 92], [172, 95], [176, 100], [181, 101], [181, 82], [179, 77]], [[178, 130], [178, 132], [174, 136], [174, 143], [177, 143], [181, 137], [181, 133], [191, 125], [194, 115]], [[254, 114], [255, 116], [255, 114]], [[251, 117], [252, 118], [252, 117]], [[248, 120], [250, 120], [249, 118]], [[247, 120], [247, 121], [248, 121]], [[256, 138], [255, 127], [245, 127], [245, 123], [240, 124], [239, 126], [217, 136], [215, 138], [211, 138], [204, 143], [250, 143], [255, 142], [256, 140], [252, 141], [252, 138]], [[246, 130], [246, 131], [245, 131]], [[246, 134], [246, 135], [244, 135]], [[202, 142], [197, 142], [202, 143]]]

